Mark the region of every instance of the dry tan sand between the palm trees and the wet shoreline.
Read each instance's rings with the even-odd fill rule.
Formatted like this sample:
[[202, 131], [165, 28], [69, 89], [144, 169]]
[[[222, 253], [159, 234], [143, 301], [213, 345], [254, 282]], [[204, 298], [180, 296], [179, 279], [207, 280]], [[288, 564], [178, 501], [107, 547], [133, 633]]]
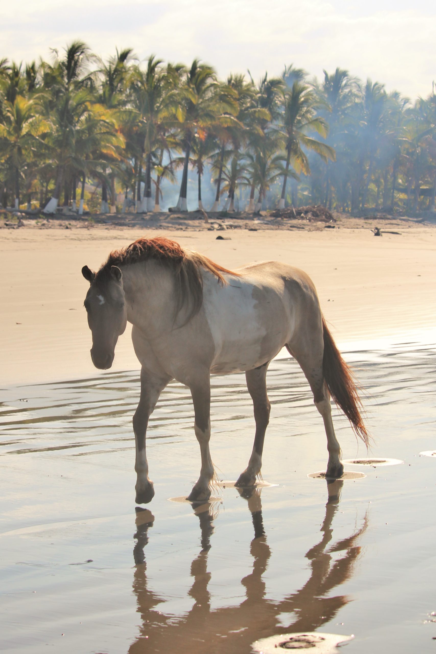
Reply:
[[[144, 234], [165, 233], [227, 267], [269, 259], [301, 267], [314, 280], [322, 311], [341, 344], [378, 337], [426, 339], [436, 317], [436, 228], [393, 225], [401, 235], [377, 238], [369, 229], [373, 225], [362, 221], [309, 231], [263, 229], [259, 224], [256, 232], [221, 232], [230, 237], [223, 241], [203, 225], [171, 230], [167, 225], [156, 228], [156, 222], [131, 228], [2, 229], [0, 383], [95, 374], [83, 308], [87, 283], [80, 269], [84, 264], [97, 268], [111, 249]], [[137, 367], [127, 328], [112, 370]]]

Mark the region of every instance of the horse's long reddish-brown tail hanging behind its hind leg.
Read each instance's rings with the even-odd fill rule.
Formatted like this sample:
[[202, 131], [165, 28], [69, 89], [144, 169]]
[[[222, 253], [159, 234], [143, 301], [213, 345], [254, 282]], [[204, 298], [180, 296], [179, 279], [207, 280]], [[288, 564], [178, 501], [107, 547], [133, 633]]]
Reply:
[[354, 433], [369, 447], [369, 434], [360, 415], [362, 408], [358, 389], [354, 383], [352, 371], [344, 362], [341, 353], [336, 347], [324, 317], [322, 318], [322, 331], [324, 335], [324, 356], [322, 358], [322, 372], [330, 391], [331, 397], [341, 407], [351, 422]]

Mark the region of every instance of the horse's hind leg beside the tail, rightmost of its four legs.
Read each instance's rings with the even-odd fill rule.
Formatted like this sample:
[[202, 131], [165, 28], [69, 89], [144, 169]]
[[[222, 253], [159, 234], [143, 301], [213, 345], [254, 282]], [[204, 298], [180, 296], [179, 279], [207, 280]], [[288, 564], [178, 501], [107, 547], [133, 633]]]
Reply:
[[331, 420], [330, 394], [322, 372], [322, 358], [324, 355], [322, 326], [320, 326], [320, 330], [316, 331], [316, 334], [305, 334], [303, 338], [292, 339], [286, 347], [301, 366], [303, 373], [305, 373], [305, 377], [312, 389], [314, 405], [322, 415], [327, 436], [327, 451], [329, 453], [326, 477], [336, 479], [342, 476], [344, 466], [341, 462], [341, 447], [335, 436], [333, 421]]

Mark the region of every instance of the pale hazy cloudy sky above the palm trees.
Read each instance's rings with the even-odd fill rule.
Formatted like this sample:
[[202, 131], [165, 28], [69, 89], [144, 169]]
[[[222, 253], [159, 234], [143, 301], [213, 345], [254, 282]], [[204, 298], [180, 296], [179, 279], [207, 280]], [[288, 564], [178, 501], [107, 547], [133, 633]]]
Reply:
[[434, 0], [0, 0], [0, 58], [48, 58], [49, 48], [86, 41], [101, 56], [133, 47], [221, 77], [254, 78], [284, 64], [322, 75], [339, 66], [409, 97], [436, 80]]

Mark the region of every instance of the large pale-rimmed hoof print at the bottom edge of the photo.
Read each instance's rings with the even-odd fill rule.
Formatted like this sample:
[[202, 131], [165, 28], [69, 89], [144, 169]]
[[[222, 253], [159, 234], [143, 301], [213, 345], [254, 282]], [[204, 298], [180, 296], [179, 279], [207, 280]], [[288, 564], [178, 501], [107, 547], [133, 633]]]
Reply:
[[318, 634], [306, 632], [298, 634], [279, 634], [256, 640], [252, 644], [254, 652], [259, 654], [278, 654], [281, 649], [312, 649], [319, 654], [334, 654], [337, 645], [352, 640], [354, 636], [340, 636], [339, 634]]

